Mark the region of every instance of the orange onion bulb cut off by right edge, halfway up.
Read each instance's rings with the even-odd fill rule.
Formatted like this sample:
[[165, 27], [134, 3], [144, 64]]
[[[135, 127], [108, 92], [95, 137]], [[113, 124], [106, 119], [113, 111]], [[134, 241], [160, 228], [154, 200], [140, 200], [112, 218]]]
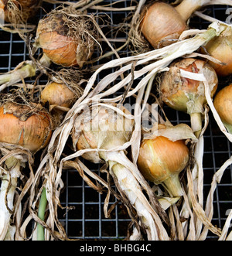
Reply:
[[223, 125], [232, 134], [232, 84], [223, 87], [215, 96], [213, 105]]

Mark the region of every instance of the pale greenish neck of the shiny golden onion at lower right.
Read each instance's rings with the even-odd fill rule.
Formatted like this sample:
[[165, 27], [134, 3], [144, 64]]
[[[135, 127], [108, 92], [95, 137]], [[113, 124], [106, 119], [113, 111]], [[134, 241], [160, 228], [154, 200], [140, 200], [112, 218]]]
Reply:
[[169, 176], [162, 182], [162, 186], [169, 192], [170, 196], [179, 197], [183, 196], [183, 188], [179, 181], [179, 175], [174, 174]]

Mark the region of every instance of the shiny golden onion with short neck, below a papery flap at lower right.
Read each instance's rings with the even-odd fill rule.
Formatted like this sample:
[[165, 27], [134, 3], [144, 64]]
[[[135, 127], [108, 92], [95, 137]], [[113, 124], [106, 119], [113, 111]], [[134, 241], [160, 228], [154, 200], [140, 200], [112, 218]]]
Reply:
[[155, 138], [143, 139], [138, 155], [138, 169], [145, 179], [162, 184], [170, 196], [183, 196], [179, 173], [189, 161], [189, 148], [183, 139], [172, 141], [159, 135], [161, 128], [165, 129], [165, 125], [159, 125]]

